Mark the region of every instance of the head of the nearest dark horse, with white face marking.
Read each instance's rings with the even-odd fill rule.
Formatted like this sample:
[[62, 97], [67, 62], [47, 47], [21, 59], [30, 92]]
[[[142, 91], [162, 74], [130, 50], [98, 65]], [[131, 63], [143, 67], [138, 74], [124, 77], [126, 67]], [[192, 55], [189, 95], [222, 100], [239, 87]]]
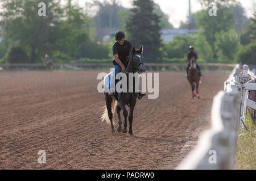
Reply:
[[133, 47], [133, 51], [131, 52], [131, 57], [130, 57], [130, 61], [129, 64], [127, 66], [127, 69], [129, 68], [130, 71], [133, 72], [138, 72], [143, 73], [146, 71], [146, 68], [144, 67], [143, 64], [143, 47], [141, 46], [140, 49], [135, 49]]

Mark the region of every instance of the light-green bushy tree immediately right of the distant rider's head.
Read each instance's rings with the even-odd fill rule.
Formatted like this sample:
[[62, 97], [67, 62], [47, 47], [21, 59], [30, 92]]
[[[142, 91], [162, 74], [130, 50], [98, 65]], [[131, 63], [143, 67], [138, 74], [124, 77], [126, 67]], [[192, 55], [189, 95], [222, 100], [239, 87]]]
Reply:
[[195, 48], [200, 60], [203, 60], [204, 62], [213, 61], [212, 47], [207, 42], [206, 37], [202, 35], [202, 33], [199, 33], [196, 37]]

